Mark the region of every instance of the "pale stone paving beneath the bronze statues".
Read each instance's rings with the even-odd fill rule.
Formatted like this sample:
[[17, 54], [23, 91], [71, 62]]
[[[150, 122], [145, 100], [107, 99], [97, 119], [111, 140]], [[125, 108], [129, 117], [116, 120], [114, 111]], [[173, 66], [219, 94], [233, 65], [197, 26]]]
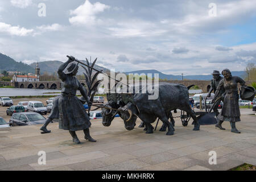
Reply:
[[[41, 125], [0, 130], [0, 170], [227, 170], [243, 163], [256, 165], [256, 115], [241, 109], [241, 134], [230, 132], [229, 122], [201, 126], [193, 131], [175, 119], [175, 135], [154, 131], [145, 134], [137, 126], [127, 131], [120, 118], [104, 127], [101, 119], [92, 121], [90, 133], [96, 143], [74, 144], [68, 131], [50, 123], [49, 134], [40, 134]], [[244, 113], [244, 114], [243, 114]], [[156, 123], [156, 122], [155, 122]], [[155, 126], [155, 123], [153, 126]], [[160, 122], [159, 122], [160, 124]], [[161, 123], [162, 124], [162, 123]], [[38, 152], [46, 151], [46, 165], [38, 164]], [[217, 164], [209, 164], [209, 151], [216, 151]]]

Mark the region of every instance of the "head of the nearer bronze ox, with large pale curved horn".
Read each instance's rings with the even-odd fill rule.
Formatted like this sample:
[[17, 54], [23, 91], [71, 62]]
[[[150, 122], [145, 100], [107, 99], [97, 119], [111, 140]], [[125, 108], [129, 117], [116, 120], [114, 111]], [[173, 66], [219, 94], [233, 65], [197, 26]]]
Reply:
[[137, 107], [129, 102], [127, 105], [119, 107], [118, 111], [125, 123], [126, 130], [133, 130], [136, 125]]

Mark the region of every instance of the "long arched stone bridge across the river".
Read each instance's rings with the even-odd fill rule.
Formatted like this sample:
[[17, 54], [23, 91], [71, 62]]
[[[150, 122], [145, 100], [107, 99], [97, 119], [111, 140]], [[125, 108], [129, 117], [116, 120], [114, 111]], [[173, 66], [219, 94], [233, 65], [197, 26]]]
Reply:
[[[80, 80], [82, 85], [85, 85], [85, 80]], [[210, 89], [210, 81], [208, 80], [168, 80], [174, 84], [183, 84], [185, 86], [197, 85], [204, 93]], [[253, 81], [246, 81], [246, 85], [251, 85]], [[61, 81], [36, 81], [36, 82], [13, 82], [15, 88], [33, 88], [33, 89], [61, 89]]]

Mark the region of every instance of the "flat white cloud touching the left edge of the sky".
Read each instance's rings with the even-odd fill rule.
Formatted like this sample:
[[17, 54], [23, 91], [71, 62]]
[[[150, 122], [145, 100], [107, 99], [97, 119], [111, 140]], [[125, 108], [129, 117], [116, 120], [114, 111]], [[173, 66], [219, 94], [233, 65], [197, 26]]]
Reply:
[[0, 22], [0, 32], [10, 35], [27, 36], [33, 31], [33, 29], [26, 29], [24, 27], [20, 28], [19, 26], [11, 26], [11, 24]]

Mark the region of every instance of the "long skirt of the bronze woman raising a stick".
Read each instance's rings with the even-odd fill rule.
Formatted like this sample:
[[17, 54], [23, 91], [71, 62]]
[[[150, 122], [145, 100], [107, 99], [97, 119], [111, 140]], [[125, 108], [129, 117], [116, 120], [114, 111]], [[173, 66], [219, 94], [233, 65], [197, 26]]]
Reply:
[[84, 130], [90, 127], [90, 118], [84, 106], [76, 96], [64, 96], [59, 98], [59, 129], [63, 130]]

